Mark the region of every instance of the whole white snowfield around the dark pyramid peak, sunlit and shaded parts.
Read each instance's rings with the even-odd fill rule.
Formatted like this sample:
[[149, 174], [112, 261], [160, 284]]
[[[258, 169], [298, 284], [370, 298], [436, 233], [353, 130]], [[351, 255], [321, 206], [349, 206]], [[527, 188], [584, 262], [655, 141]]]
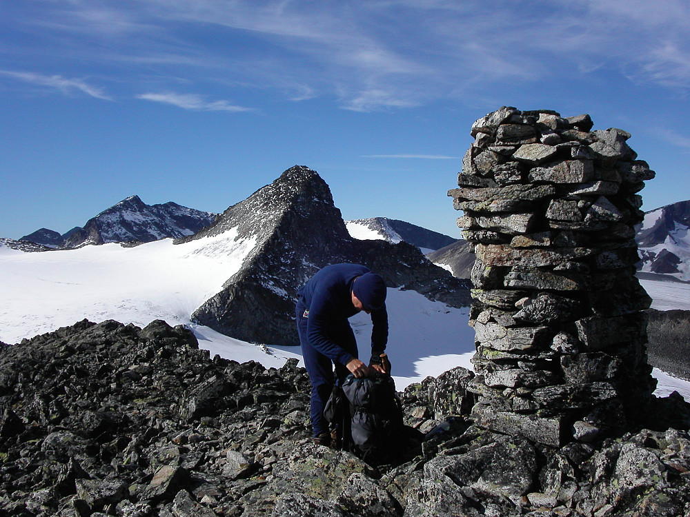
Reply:
[[[173, 245], [171, 239], [121, 247], [85, 246], [78, 250], [24, 253], [0, 245], [0, 341], [23, 338], [73, 325], [83, 318], [115, 319], [144, 327], [154, 319], [188, 325], [199, 347], [211, 356], [258, 361], [279, 367], [300, 358], [299, 347], [255, 345], [195, 325], [190, 314], [216, 294], [255, 247], [237, 232]], [[655, 308], [690, 310], [690, 285], [642, 281]], [[388, 355], [397, 389], [437, 376], [455, 366], [472, 368], [474, 330], [469, 309], [429, 301], [414, 291], [388, 290]], [[359, 355], [370, 353], [371, 319], [351, 318]], [[657, 394], [676, 390], [690, 401], [690, 382], [655, 369]]]

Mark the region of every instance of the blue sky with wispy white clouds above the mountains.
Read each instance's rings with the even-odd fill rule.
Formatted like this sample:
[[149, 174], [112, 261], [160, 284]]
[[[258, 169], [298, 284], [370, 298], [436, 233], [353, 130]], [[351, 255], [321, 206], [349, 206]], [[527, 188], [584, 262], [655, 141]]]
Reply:
[[3, 1], [0, 236], [132, 194], [221, 212], [299, 164], [345, 219], [459, 237], [446, 191], [502, 105], [631, 132], [643, 209], [684, 201], [688, 34], [685, 0]]

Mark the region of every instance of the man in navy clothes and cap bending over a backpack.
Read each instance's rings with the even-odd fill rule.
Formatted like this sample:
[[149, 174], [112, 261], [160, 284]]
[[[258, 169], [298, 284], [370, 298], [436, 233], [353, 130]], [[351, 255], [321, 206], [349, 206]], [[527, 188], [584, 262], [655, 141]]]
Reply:
[[[333, 390], [333, 363], [338, 383], [348, 374], [366, 377], [370, 368], [389, 373], [384, 350], [388, 341], [386, 283], [363, 265], [324, 267], [297, 292], [297, 332], [311, 382], [311, 424], [314, 443], [330, 445], [324, 405]], [[348, 318], [371, 314], [371, 361], [357, 358], [355, 334]]]

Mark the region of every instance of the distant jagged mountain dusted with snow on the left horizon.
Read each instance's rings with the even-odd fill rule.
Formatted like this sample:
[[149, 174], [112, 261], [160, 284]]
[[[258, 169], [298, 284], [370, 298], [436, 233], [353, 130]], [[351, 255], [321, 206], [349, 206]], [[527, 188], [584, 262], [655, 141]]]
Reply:
[[41, 228], [20, 240], [64, 249], [87, 244], [151, 242], [195, 234], [216, 218], [217, 214], [172, 201], [147, 205], [139, 196], [130, 196], [66, 234]]

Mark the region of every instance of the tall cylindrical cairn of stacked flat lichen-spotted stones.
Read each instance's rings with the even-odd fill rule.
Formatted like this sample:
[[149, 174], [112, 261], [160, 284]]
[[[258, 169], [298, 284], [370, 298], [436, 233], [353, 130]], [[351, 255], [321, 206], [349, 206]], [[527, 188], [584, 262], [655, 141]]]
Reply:
[[655, 387], [633, 228], [655, 174], [628, 132], [592, 125], [500, 108], [449, 191], [475, 248], [473, 417], [553, 447], [633, 425]]

